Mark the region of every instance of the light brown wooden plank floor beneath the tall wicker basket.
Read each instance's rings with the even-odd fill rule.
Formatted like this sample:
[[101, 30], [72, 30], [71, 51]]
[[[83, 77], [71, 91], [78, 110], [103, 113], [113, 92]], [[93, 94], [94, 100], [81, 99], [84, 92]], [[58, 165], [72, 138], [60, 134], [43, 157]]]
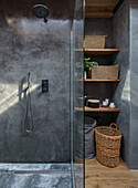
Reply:
[[95, 158], [87, 159], [85, 188], [138, 188], [138, 170], [129, 170], [123, 160], [118, 167], [108, 168]]

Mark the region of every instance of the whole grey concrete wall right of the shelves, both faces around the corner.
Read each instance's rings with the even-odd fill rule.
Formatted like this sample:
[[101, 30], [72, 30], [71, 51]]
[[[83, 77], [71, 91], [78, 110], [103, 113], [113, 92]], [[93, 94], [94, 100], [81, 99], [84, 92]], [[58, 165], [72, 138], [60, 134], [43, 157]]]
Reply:
[[121, 156], [130, 169], [138, 169], [138, 1], [126, 0], [114, 18], [114, 43], [120, 48], [120, 84], [115, 101], [120, 105], [117, 123], [123, 133]]

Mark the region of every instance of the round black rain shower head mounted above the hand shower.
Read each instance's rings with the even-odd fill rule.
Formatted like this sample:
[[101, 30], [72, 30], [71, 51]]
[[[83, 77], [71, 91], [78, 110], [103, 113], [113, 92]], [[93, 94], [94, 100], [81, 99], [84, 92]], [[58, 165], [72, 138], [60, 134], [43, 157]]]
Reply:
[[46, 20], [47, 15], [49, 15], [49, 9], [43, 4], [36, 4], [32, 8], [32, 13], [36, 18], [43, 18]]

